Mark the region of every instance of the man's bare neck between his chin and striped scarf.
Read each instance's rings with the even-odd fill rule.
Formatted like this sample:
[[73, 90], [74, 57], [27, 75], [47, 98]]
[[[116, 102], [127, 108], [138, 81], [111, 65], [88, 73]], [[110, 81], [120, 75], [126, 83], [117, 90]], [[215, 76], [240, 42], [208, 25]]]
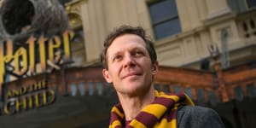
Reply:
[[137, 114], [148, 104], [154, 101], [154, 88], [142, 96], [126, 96], [119, 94], [119, 102], [125, 112], [125, 120], [134, 119]]

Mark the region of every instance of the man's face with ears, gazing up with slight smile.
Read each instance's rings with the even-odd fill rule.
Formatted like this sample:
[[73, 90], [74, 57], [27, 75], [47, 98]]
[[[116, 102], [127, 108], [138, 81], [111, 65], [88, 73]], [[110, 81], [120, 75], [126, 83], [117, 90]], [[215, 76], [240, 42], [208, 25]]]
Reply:
[[102, 73], [120, 94], [139, 95], [149, 90], [158, 63], [151, 63], [143, 38], [125, 34], [115, 38], [107, 50], [108, 70]]

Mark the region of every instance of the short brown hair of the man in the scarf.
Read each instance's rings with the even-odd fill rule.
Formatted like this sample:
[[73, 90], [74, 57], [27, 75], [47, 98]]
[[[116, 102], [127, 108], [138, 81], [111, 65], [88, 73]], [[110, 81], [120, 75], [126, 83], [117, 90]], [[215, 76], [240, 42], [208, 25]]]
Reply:
[[101, 61], [102, 61], [104, 68], [108, 69], [108, 61], [107, 61], [108, 47], [112, 44], [112, 42], [115, 38], [118, 38], [119, 36], [122, 36], [125, 34], [135, 34], [135, 35], [143, 38], [143, 40], [146, 44], [146, 48], [148, 50], [148, 54], [150, 55], [152, 64], [157, 60], [157, 55], [156, 55], [156, 52], [154, 49], [154, 44], [148, 37], [146, 37], [143, 27], [141, 27], [141, 26], [133, 27], [133, 26], [123, 25], [123, 26], [119, 26], [118, 28], [116, 28], [113, 32], [110, 32], [110, 34], [104, 41], [104, 48], [103, 48], [102, 55], [101, 55]]

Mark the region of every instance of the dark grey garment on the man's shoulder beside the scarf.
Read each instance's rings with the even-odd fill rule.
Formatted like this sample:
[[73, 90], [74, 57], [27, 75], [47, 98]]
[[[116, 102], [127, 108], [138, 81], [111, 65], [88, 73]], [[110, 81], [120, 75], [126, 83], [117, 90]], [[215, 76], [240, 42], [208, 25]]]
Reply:
[[182, 106], [177, 109], [177, 127], [224, 128], [224, 124], [211, 108]]

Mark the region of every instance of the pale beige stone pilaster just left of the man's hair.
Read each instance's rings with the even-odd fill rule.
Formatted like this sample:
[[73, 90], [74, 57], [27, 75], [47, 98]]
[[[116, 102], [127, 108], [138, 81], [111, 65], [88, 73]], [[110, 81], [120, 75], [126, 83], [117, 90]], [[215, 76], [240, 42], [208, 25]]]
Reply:
[[96, 61], [102, 51], [104, 35], [106, 35], [103, 9], [103, 3], [99, 0], [85, 1], [81, 4], [86, 61]]

